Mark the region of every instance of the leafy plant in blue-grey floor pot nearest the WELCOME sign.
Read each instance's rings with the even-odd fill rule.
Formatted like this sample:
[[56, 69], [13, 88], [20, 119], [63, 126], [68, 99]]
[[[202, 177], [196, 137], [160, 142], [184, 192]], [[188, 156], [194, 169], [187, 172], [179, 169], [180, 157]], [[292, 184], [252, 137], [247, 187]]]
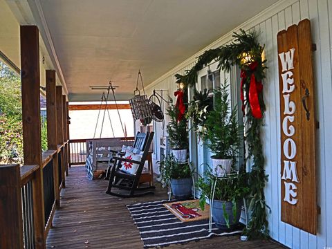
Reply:
[[204, 178], [199, 178], [197, 184], [201, 190], [200, 206], [202, 210], [204, 210], [204, 205], [208, 200], [211, 205], [211, 190], [215, 181], [212, 219], [216, 223], [217, 228], [232, 229], [239, 223], [242, 200], [249, 192], [247, 174], [245, 172], [240, 174], [235, 172], [234, 174], [217, 178], [211, 169], [208, 170]]

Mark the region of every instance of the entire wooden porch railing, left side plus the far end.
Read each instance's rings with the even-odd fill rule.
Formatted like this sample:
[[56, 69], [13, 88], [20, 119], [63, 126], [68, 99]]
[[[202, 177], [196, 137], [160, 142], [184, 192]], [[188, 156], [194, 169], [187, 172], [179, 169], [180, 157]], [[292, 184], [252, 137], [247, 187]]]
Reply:
[[[115, 143], [108, 145], [131, 140], [132, 137], [110, 138], [108, 141]], [[60, 205], [59, 192], [66, 185], [65, 173], [69, 165], [85, 163], [89, 141], [68, 140], [55, 150], [45, 151], [41, 165], [0, 165], [0, 235], [6, 236], [0, 240], [0, 248], [45, 248]], [[41, 192], [42, 202], [38, 198]]]

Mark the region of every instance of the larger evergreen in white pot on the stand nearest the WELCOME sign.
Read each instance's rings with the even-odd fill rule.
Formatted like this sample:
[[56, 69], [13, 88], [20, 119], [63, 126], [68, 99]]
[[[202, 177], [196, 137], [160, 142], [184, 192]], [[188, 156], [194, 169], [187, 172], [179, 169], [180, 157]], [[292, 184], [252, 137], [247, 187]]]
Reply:
[[232, 163], [239, 152], [239, 123], [237, 107], [230, 108], [226, 82], [214, 90], [214, 108], [205, 121], [203, 140], [214, 154], [212, 171], [216, 176], [230, 174]]

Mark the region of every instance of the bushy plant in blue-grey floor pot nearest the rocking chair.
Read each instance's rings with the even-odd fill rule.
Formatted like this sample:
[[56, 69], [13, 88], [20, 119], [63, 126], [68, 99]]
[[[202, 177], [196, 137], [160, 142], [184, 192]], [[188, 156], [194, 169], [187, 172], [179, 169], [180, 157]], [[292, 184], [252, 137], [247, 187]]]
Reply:
[[178, 163], [170, 154], [159, 162], [160, 180], [165, 187], [169, 182], [175, 199], [184, 200], [192, 196], [192, 172], [189, 163]]

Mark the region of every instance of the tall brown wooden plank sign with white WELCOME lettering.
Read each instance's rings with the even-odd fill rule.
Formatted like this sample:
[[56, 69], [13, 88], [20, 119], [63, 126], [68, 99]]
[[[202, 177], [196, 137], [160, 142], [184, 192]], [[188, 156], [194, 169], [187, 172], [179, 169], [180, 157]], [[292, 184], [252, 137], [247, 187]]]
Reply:
[[304, 19], [280, 31], [277, 44], [282, 221], [316, 234], [315, 94], [310, 21]]

